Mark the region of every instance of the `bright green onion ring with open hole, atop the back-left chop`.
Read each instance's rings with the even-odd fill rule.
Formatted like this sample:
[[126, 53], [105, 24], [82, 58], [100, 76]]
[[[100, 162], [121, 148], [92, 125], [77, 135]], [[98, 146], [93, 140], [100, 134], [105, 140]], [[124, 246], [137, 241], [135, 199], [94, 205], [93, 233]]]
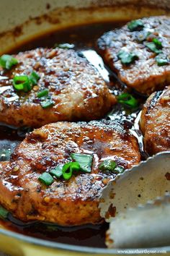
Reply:
[[19, 75], [13, 78], [13, 86], [15, 90], [23, 90], [25, 93], [29, 92], [32, 87], [27, 75]]

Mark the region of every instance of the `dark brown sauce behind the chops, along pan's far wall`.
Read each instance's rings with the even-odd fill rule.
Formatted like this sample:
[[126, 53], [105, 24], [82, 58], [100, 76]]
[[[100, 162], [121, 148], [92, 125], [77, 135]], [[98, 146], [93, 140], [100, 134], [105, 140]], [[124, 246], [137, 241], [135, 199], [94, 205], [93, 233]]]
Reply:
[[55, 33], [49, 33], [43, 35], [40, 38], [36, 38], [28, 43], [24, 43], [23, 46], [15, 49], [11, 54], [15, 54], [19, 51], [27, 51], [38, 47], [53, 48], [55, 43], [70, 43], [75, 45], [76, 50], [82, 49], [96, 49], [97, 39], [105, 32], [114, 29], [115, 27], [121, 27], [125, 25], [127, 21], [122, 22], [103, 22], [94, 23], [89, 25], [80, 25], [75, 27], [68, 27], [68, 29], [58, 30]]

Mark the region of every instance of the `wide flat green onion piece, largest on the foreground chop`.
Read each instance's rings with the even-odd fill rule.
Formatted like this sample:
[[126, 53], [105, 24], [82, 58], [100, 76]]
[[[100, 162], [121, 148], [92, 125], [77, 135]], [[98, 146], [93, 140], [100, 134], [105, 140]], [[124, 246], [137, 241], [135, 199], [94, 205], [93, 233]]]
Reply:
[[71, 153], [71, 158], [75, 160], [77, 163], [79, 163], [81, 171], [84, 171], [87, 173], [91, 172], [93, 155]]

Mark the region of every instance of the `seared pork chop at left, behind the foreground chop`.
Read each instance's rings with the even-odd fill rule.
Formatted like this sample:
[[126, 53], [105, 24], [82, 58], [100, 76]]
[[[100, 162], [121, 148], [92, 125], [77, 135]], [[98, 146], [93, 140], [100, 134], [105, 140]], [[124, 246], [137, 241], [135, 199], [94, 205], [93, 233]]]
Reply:
[[[41, 127], [54, 121], [100, 119], [115, 103], [106, 83], [86, 59], [73, 50], [37, 48], [14, 56], [19, 64], [0, 68], [0, 121], [17, 127]], [[14, 90], [17, 75], [40, 76], [30, 92]], [[37, 93], [48, 89], [53, 106], [42, 108], [45, 98]], [[47, 97], [47, 96], [46, 96]]]

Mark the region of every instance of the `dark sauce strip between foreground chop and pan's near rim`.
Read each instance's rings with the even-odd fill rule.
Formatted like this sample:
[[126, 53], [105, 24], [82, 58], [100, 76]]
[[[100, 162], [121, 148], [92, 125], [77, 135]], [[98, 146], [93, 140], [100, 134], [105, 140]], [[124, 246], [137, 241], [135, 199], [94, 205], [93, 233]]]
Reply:
[[106, 247], [104, 244], [105, 233], [109, 228], [107, 223], [71, 228], [48, 226], [40, 222], [25, 225], [21, 221], [12, 218], [12, 216], [9, 216], [8, 221], [2, 221], [0, 219], [0, 225], [19, 234], [46, 239], [52, 242], [99, 248]]

